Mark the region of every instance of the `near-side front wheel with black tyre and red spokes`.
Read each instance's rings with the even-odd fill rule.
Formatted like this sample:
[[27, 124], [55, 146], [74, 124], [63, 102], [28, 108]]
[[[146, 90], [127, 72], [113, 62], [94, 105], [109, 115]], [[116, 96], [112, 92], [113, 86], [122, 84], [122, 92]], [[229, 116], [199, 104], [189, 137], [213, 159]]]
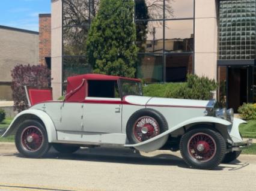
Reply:
[[180, 140], [181, 155], [192, 168], [216, 168], [224, 158], [225, 151], [224, 138], [212, 129], [193, 129]]

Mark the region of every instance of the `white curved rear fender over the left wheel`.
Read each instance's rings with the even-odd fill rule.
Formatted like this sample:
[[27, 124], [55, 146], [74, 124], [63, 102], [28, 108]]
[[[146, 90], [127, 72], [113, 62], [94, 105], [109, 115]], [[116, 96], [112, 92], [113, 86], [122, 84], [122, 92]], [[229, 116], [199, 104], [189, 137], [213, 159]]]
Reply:
[[48, 114], [44, 111], [36, 109], [25, 110], [17, 114], [17, 116], [14, 117], [13, 122], [11, 122], [11, 125], [5, 131], [4, 135], [2, 135], [2, 137], [14, 135], [17, 131], [19, 123], [22, 123], [25, 119], [29, 119], [29, 117], [38, 117], [44, 123], [49, 143], [56, 140], [56, 129], [54, 123], [52, 122], [52, 119], [50, 119], [50, 116], [48, 116]]

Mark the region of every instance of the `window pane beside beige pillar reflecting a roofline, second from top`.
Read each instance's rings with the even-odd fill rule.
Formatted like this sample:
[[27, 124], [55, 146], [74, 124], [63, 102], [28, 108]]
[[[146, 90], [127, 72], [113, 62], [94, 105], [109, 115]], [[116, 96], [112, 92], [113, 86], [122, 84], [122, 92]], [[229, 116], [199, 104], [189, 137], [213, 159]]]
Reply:
[[194, 20], [169, 20], [165, 24], [165, 51], [194, 50]]

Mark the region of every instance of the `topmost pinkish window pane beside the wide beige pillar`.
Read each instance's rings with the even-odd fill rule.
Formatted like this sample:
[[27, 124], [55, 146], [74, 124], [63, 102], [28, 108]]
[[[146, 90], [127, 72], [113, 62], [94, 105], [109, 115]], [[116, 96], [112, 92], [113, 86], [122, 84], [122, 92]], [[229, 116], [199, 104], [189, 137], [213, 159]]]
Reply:
[[194, 0], [165, 0], [165, 18], [193, 18]]

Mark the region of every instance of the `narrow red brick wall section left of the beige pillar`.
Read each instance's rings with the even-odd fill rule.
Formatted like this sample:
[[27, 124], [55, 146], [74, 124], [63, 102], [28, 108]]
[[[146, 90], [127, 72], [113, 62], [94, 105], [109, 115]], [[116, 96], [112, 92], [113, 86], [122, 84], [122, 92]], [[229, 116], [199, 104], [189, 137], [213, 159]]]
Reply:
[[39, 14], [39, 64], [46, 65], [50, 57], [50, 14]]

